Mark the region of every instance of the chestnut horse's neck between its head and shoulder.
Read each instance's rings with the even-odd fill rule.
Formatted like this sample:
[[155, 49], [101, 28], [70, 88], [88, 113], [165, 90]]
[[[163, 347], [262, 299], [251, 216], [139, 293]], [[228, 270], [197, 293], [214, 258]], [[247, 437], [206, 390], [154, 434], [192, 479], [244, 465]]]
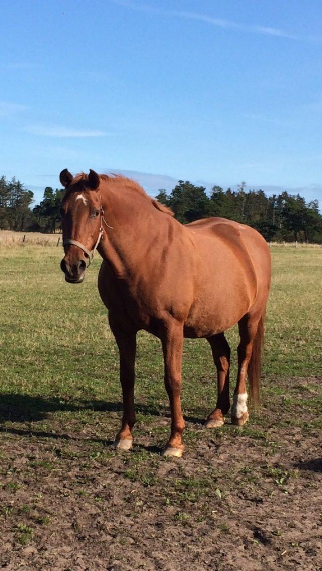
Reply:
[[142, 255], [160, 234], [162, 216], [148, 196], [116, 185], [102, 190], [102, 208], [104, 238], [98, 250], [116, 275], [126, 278], [137, 272]]

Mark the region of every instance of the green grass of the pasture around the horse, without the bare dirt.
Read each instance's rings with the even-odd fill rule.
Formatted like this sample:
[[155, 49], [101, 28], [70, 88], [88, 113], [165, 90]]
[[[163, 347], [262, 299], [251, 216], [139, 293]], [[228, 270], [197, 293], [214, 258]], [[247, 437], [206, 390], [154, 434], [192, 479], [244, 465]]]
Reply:
[[[82, 431], [96, 424], [94, 439], [113, 439], [121, 414], [121, 389], [118, 351], [96, 285], [100, 260], [97, 256], [84, 284], [70, 286], [59, 269], [61, 257], [60, 248], [0, 247], [0, 421], [8, 430], [25, 423], [30, 434], [37, 422], [37, 432], [48, 437], [54, 436], [57, 427], [48, 419], [54, 419], [66, 433], [69, 428]], [[273, 247], [272, 260], [263, 373], [271, 379], [267, 394], [273, 391], [276, 397], [283, 396], [279, 379], [321, 372], [322, 248]], [[232, 346], [233, 391], [237, 328], [228, 331], [227, 337]], [[153, 435], [152, 444], [157, 446], [164, 443], [169, 428], [158, 422], [158, 417], [168, 414], [162, 377], [160, 341], [140, 332], [137, 429], [146, 437]], [[182, 377], [182, 406], [188, 420], [185, 438], [193, 445], [202, 439], [194, 422], [205, 417], [216, 401], [216, 373], [205, 340], [185, 340]], [[309, 405], [318, 412], [321, 389], [312, 393], [308, 384], [307, 390], [300, 390], [306, 393], [304, 400], [285, 395], [285, 408]], [[107, 418], [108, 435], [102, 427]], [[220, 434], [225, 434], [225, 428]], [[251, 429], [241, 435], [265, 440], [264, 434], [256, 435]], [[67, 446], [61, 453], [77, 459], [77, 453]], [[34, 468], [50, 471], [52, 466], [45, 463]]]

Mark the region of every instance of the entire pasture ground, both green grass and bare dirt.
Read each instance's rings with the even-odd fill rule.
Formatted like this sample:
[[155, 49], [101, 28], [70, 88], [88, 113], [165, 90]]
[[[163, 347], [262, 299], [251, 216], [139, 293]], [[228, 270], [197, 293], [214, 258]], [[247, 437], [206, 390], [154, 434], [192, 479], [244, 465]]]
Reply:
[[[322, 568], [322, 248], [272, 247], [263, 407], [205, 431], [208, 344], [186, 340], [185, 455], [169, 432], [160, 342], [138, 336], [132, 452], [116, 345], [96, 287], [66, 284], [61, 248], [0, 245], [0, 566], [181, 571]], [[228, 332], [236, 378], [237, 332]], [[234, 382], [232, 383], [232, 390]]]

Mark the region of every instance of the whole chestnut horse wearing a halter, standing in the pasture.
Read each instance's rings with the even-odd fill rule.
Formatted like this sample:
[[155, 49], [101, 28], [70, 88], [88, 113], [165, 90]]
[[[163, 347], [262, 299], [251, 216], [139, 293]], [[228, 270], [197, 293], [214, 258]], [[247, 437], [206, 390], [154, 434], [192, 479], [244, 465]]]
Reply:
[[265, 305], [271, 256], [264, 238], [249, 226], [205, 218], [183, 226], [172, 212], [122, 176], [60, 175], [66, 188], [61, 214], [69, 283], [84, 280], [94, 251], [103, 262], [98, 290], [108, 308], [120, 351], [124, 413], [115, 445], [132, 447], [136, 334], [145, 329], [161, 339], [171, 432], [164, 455], [181, 456], [181, 360], [184, 337], [205, 337], [217, 368], [216, 408], [207, 428], [224, 424], [229, 402], [230, 348], [224, 332], [238, 323], [238, 377], [232, 423], [248, 419], [246, 377], [259, 402]]

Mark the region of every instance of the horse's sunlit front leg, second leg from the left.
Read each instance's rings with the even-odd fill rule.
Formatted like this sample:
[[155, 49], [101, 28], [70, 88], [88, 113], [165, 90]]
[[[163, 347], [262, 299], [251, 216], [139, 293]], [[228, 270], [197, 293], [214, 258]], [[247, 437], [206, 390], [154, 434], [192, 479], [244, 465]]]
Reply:
[[181, 395], [181, 363], [184, 343], [183, 325], [169, 324], [161, 337], [164, 357], [164, 384], [168, 393], [171, 411], [171, 433], [168, 444], [163, 451], [164, 456], [182, 456], [184, 447], [181, 435], [185, 423], [182, 417]]

